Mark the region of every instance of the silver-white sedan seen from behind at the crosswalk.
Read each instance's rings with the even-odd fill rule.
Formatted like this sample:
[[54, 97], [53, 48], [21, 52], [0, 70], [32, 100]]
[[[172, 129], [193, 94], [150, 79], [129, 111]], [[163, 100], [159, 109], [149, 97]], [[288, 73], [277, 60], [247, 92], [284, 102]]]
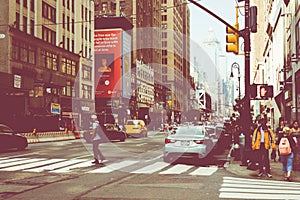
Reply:
[[201, 160], [213, 149], [214, 141], [205, 126], [181, 126], [165, 138], [163, 159], [175, 162], [180, 158]]

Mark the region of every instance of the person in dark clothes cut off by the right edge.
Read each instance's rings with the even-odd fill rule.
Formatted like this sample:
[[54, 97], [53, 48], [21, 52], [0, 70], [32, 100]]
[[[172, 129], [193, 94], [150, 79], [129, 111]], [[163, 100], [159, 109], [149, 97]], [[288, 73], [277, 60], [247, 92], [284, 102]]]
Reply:
[[299, 121], [294, 120], [291, 125], [291, 132], [293, 137], [296, 139], [296, 147], [294, 151], [294, 161], [293, 161], [293, 168], [294, 170], [300, 170], [300, 127]]

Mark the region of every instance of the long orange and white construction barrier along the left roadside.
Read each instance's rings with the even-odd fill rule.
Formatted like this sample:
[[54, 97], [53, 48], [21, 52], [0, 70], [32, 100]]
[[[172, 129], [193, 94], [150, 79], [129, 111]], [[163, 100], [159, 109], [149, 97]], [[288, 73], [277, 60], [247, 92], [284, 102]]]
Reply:
[[19, 133], [27, 138], [28, 143], [55, 142], [62, 140], [80, 139], [80, 134], [72, 131], [49, 131], [49, 132], [30, 132]]

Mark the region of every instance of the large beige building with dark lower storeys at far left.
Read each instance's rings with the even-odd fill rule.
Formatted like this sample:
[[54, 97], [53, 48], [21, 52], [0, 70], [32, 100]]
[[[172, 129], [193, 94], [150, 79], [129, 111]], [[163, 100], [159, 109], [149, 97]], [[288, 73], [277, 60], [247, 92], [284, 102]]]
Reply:
[[80, 111], [93, 111], [93, 3], [16, 0], [0, 11], [1, 121], [17, 131], [80, 126]]

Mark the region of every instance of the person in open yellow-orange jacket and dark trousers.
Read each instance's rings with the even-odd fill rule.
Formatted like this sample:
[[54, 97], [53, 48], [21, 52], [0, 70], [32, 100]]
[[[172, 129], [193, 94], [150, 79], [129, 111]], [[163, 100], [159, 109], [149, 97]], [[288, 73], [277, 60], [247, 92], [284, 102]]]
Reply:
[[259, 177], [265, 174], [267, 177], [272, 178], [269, 159], [269, 149], [271, 147], [276, 149], [274, 132], [268, 128], [266, 117], [261, 118], [259, 126], [254, 130], [252, 137], [252, 149], [255, 151], [259, 163]]

